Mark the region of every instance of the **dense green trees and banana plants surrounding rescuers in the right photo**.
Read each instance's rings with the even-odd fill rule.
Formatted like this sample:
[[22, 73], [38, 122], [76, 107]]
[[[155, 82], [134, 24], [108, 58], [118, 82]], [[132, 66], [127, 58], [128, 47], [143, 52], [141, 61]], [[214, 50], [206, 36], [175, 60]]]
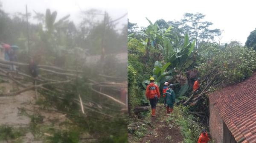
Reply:
[[[160, 89], [166, 81], [175, 84], [176, 105], [181, 105], [177, 114], [182, 115], [178, 124], [183, 126], [186, 143], [195, 142], [201, 128], [209, 125], [207, 93], [242, 81], [256, 70], [253, 44], [247, 44], [248, 47], [237, 41], [222, 44], [222, 30], [209, 29], [212, 22], [204, 21], [204, 17], [200, 13], [186, 13], [180, 21], [161, 19], [152, 23], [147, 19], [148, 27], [141, 28], [128, 21], [128, 106], [133, 117], [129, 123], [147, 115], [140, 112], [134, 116], [133, 109], [148, 105], [145, 87], [153, 76]], [[248, 40], [253, 39], [251, 35], [253, 32]], [[202, 81], [196, 97], [192, 85], [198, 77]]]

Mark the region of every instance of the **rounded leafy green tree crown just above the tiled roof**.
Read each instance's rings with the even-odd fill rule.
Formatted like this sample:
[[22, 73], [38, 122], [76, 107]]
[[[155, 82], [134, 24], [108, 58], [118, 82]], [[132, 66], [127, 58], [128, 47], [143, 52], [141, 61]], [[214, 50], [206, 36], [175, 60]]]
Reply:
[[201, 77], [210, 79], [214, 72], [218, 72], [214, 82], [221, 83], [220, 86], [242, 81], [256, 70], [256, 52], [252, 49], [240, 46], [220, 48], [217, 44], [207, 43], [199, 49], [199, 55]]

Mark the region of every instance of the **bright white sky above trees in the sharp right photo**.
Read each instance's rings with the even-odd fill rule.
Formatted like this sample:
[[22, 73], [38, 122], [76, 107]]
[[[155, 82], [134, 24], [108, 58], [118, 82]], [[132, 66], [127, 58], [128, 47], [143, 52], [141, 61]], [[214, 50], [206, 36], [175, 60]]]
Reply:
[[158, 19], [180, 20], [183, 14], [203, 13], [210, 28], [223, 29], [221, 43], [231, 40], [245, 43], [256, 28], [255, 0], [129, 0], [128, 18], [139, 26], [147, 26]]

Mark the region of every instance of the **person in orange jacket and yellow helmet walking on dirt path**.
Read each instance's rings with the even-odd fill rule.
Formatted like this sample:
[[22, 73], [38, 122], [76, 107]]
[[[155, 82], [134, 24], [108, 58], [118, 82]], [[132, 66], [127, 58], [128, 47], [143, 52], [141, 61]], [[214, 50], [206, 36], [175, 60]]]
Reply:
[[150, 84], [148, 84], [146, 89], [146, 97], [151, 105], [151, 116], [156, 116], [156, 107], [157, 107], [157, 99], [160, 98], [160, 92], [157, 84], [154, 84], [154, 78], [151, 77], [149, 79]]

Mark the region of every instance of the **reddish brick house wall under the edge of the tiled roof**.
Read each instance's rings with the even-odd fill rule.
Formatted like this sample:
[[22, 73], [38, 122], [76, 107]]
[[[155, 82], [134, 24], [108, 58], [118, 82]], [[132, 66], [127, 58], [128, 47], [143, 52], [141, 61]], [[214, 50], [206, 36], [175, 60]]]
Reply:
[[213, 108], [213, 103], [209, 104], [210, 108], [210, 119], [209, 128], [212, 140], [215, 143], [223, 143], [223, 120], [218, 112]]

